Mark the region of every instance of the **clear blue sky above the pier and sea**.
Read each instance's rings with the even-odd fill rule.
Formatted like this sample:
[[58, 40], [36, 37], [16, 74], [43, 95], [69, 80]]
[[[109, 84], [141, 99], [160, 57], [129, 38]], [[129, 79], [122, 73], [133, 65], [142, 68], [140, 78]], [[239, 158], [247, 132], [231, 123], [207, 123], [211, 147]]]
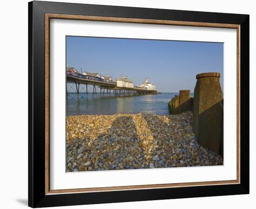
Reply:
[[223, 43], [67, 36], [67, 67], [148, 78], [161, 92], [194, 92], [196, 74], [220, 72], [223, 91]]

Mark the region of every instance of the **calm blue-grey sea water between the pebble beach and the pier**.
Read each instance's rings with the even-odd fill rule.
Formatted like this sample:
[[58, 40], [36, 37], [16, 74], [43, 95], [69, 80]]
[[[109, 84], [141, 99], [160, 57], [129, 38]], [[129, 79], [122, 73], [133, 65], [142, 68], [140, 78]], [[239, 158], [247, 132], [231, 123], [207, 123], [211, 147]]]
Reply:
[[[161, 93], [131, 97], [92, 96], [92, 94], [69, 94], [67, 116], [70, 115], [113, 115], [113, 114], [156, 114], [169, 115], [168, 102], [179, 93]], [[194, 97], [194, 93], [190, 94]], [[82, 98], [81, 98], [82, 97]]]

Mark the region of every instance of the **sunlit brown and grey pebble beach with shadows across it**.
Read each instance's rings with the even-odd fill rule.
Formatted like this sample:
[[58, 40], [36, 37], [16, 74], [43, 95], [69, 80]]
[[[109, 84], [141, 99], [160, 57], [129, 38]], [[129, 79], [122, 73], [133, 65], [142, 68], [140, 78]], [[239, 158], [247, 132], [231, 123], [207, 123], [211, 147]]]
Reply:
[[223, 165], [197, 144], [191, 111], [179, 115], [67, 117], [67, 172]]

